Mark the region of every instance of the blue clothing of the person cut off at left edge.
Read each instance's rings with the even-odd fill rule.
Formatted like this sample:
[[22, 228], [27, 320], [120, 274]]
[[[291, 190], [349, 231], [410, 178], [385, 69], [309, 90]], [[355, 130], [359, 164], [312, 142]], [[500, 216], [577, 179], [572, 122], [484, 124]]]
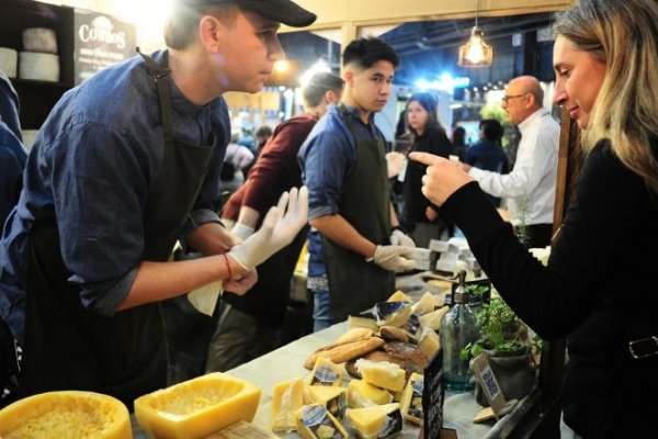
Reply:
[[0, 230], [19, 201], [26, 160], [19, 122], [19, 95], [0, 70]]

